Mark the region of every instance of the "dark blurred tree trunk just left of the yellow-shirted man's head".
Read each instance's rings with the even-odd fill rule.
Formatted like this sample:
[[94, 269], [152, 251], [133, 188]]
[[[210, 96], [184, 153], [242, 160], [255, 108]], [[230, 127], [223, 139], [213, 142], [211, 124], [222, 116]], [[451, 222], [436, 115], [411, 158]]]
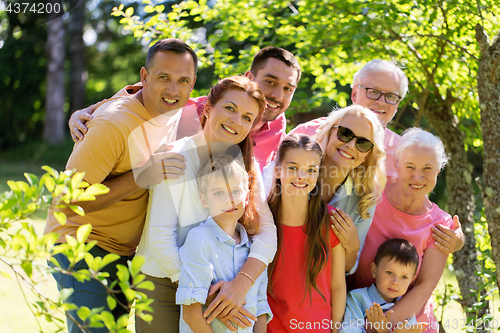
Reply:
[[[85, 103], [85, 54], [83, 43], [83, 24], [85, 22], [86, 0], [72, 0], [72, 9], [69, 12], [69, 71], [70, 102], [69, 114], [80, 110]], [[73, 4], [74, 3], [74, 4]]]

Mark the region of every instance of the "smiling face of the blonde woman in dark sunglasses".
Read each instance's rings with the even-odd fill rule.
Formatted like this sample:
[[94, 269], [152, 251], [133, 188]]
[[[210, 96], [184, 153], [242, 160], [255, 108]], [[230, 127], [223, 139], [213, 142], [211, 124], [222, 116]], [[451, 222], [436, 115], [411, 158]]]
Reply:
[[[340, 121], [340, 126], [350, 129], [354, 135], [363, 137], [373, 142], [372, 126], [366, 118], [357, 112], [346, 114]], [[342, 142], [337, 138], [338, 128], [332, 128], [326, 147], [325, 163], [328, 166], [336, 166], [347, 172], [357, 168], [368, 157], [356, 149], [356, 139]]]

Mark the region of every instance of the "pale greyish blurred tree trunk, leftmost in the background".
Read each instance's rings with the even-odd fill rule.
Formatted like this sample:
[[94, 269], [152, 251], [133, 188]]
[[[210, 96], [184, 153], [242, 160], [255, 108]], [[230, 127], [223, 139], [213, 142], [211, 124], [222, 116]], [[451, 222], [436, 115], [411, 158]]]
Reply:
[[[50, 18], [49, 18], [50, 19]], [[64, 140], [64, 22], [62, 16], [48, 22], [47, 44], [47, 100], [43, 139], [50, 144]]]

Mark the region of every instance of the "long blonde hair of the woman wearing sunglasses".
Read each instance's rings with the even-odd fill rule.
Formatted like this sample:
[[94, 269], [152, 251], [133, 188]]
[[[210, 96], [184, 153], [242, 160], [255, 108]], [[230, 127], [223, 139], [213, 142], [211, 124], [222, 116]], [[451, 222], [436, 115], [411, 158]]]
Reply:
[[[330, 112], [325, 121], [316, 130], [315, 138], [326, 150], [328, 139], [334, 126], [340, 124], [343, 117], [349, 113], [355, 113], [365, 118], [371, 126], [373, 148], [367, 158], [358, 167], [351, 170], [349, 175], [354, 181], [354, 189], [360, 196], [358, 203], [361, 218], [368, 218], [368, 209], [374, 206], [381, 197], [387, 182], [385, 174], [385, 145], [384, 127], [378, 116], [368, 108], [360, 105], [351, 105], [346, 108]], [[326, 151], [325, 151], [326, 154]], [[361, 193], [358, 192], [361, 189]]]

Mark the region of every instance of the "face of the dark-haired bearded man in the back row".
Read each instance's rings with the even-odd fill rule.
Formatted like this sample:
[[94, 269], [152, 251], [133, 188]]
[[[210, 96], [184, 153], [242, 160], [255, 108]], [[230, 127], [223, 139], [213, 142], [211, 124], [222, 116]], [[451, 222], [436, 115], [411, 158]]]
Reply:
[[273, 121], [288, 109], [298, 83], [299, 74], [295, 67], [269, 58], [257, 73], [248, 71], [245, 75], [258, 83], [266, 96], [267, 105], [261, 121]]

